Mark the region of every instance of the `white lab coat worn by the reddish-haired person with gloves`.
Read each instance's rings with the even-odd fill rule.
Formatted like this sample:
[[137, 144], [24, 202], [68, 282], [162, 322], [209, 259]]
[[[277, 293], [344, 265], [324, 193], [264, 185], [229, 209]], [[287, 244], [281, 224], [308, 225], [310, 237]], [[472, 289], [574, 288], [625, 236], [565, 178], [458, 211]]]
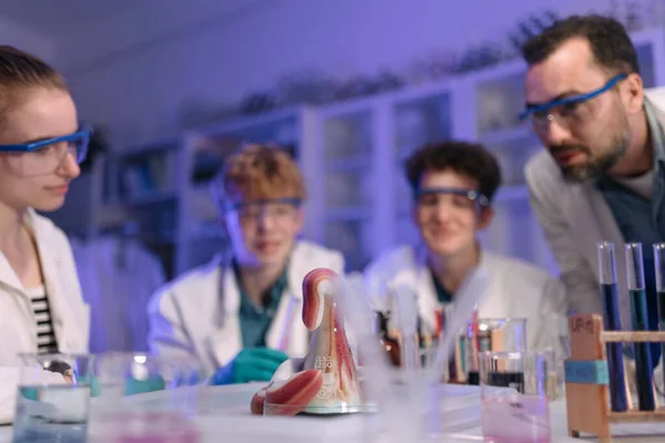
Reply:
[[[303, 279], [315, 268], [344, 272], [340, 253], [297, 241], [288, 265], [288, 289], [268, 329], [266, 343], [304, 357], [309, 334], [301, 320]], [[158, 290], [149, 303], [153, 352], [197, 359], [211, 373], [242, 350], [241, 293], [229, 255], [218, 255]], [[279, 341], [288, 334], [288, 340]]]

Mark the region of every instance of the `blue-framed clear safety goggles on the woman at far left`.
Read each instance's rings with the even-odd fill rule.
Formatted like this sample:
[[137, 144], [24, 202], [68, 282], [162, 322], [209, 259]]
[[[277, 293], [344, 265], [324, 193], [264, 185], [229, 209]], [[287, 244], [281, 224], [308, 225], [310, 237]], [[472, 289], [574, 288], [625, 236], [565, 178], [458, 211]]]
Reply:
[[88, 155], [91, 135], [91, 130], [81, 130], [60, 137], [0, 145], [0, 152], [11, 155], [11, 162], [21, 175], [48, 175], [55, 172], [69, 154], [74, 157], [76, 164], [81, 164]]

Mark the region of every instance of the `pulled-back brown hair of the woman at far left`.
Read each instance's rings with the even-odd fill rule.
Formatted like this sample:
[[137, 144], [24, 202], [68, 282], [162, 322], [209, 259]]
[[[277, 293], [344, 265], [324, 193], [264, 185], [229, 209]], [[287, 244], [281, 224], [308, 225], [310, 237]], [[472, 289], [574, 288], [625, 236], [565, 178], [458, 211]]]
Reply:
[[0, 45], [0, 124], [18, 95], [35, 87], [66, 91], [63, 76], [44, 61], [13, 47]]

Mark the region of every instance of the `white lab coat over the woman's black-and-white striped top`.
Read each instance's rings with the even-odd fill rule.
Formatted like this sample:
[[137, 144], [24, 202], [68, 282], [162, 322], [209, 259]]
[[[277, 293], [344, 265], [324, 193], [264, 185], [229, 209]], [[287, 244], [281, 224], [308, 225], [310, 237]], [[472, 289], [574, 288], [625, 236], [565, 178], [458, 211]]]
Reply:
[[[90, 309], [81, 297], [66, 236], [51, 220], [29, 210], [27, 226], [39, 249], [51, 319], [60, 352], [88, 352]], [[0, 253], [0, 424], [11, 423], [19, 370], [17, 354], [37, 352], [37, 321], [30, 297]]]

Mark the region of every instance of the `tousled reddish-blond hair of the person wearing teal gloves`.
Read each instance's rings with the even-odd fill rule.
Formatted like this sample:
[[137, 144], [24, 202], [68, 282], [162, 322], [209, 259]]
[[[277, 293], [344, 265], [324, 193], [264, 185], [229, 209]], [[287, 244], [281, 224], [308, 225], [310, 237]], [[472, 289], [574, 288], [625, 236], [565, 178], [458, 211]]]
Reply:
[[221, 206], [242, 199], [305, 198], [303, 175], [279, 146], [248, 144], [229, 155], [212, 183]]

